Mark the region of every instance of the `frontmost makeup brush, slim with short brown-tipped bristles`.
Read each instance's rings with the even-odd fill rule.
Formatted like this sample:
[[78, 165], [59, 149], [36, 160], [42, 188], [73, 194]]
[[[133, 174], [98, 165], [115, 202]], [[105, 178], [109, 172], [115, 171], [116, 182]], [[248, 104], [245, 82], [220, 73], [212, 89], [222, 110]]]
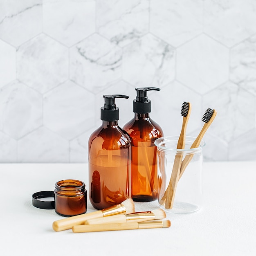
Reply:
[[152, 220], [145, 222], [125, 222], [125, 223], [106, 223], [97, 225], [76, 225], [72, 227], [74, 233], [112, 231], [127, 229], [153, 229], [161, 227], [171, 227], [170, 220]]

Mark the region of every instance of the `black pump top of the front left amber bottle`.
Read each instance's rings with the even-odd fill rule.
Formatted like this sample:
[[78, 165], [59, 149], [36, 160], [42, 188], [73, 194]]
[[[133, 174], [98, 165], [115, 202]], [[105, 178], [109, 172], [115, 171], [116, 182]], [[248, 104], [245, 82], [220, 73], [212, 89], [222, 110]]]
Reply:
[[116, 107], [115, 99], [124, 98], [128, 99], [129, 96], [122, 94], [103, 95], [105, 99], [104, 106], [101, 107], [101, 120], [103, 121], [117, 121], [119, 120], [119, 108]]

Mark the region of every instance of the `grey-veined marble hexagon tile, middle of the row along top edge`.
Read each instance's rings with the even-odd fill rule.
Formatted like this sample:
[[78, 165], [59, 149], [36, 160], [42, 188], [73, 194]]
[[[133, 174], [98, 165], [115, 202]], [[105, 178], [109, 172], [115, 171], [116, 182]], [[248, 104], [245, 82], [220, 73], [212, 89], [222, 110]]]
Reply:
[[148, 32], [149, 0], [97, 0], [96, 3], [97, 32], [110, 42], [124, 46]]

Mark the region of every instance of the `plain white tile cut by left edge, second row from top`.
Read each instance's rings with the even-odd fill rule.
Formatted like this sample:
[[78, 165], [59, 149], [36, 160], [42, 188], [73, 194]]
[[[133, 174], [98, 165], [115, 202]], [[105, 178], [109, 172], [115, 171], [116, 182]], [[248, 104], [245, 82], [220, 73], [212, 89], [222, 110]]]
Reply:
[[0, 40], [0, 87], [16, 79], [16, 49]]

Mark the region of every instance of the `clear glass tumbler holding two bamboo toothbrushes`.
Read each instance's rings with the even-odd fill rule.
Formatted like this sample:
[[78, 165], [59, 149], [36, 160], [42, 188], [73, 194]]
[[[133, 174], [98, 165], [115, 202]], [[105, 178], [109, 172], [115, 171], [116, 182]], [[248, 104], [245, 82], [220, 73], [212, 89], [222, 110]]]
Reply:
[[[191, 213], [202, 207], [202, 149], [201, 141], [197, 148], [190, 148], [195, 137], [186, 136], [184, 149], [177, 149], [179, 136], [162, 137], [155, 140], [157, 146], [158, 202], [161, 208], [172, 213]], [[171, 179], [175, 157], [182, 159], [174, 202], [171, 209], [165, 205], [165, 192]], [[175, 160], [177, 161], [177, 159]], [[180, 160], [181, 161], [181, 160]]]

